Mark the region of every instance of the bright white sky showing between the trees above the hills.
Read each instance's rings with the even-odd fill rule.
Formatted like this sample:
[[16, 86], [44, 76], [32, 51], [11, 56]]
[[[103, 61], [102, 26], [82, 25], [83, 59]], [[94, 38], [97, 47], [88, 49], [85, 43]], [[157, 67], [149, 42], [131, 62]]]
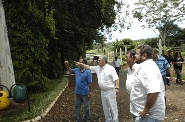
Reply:
[[[124, 0], [124, 3], [129, 3], [131, 5], [130, 7], [133, 8], [133, 3], [137, 1], [138, 0]], [[116, 39], [121, 40], [124, 38], [130, 38], [131, 40], [139, 40], [158, 37], [158, 35], [151, 28], [143, 29], [141, 27], [142, 24], [137, 19], [132, 18], [132, 22], [132, 27], [129, 30], [123, 29], [121, 33], [119, 31], [113, 32], [111, 40], [107, 37], [108, 42], [113, 42]], [[185, 22], [183, 22], [180, 27], [185, 28]]]

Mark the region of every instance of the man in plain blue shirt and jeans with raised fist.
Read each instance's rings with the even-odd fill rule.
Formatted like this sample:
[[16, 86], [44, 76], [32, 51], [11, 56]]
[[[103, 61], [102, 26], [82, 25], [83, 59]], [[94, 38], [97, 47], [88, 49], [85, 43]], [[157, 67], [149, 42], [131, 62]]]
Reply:
[[[86, 59], [80, 59], [79, 62], [83, 64], [87, 64]], [[85, 106], [85, 119], [86, 122], [90, 122], [90, 103], [89, 99], [91, 98], [91, 83], [92, 83], [92, 74], [89, 70], [78, 67], [71, 69], [69, 67], [69, 62], [64, 62], [66, 65], [66, 68], [69, 72], [75, 74], [75, 94], [76, 94], [76, 100], [75, 100], [75, 113], [76, 113], [76, 121], [82, 122], [81, 117], [81, 105], [84, 103]]]

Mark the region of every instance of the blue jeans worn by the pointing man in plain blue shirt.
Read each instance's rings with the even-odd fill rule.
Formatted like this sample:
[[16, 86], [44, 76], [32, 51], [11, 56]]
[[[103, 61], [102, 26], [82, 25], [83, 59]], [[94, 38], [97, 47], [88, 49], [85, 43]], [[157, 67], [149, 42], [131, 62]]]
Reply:
[[76, 94], [76, 101], [75, 101], [75, 113], [76, 113], [76, 121], [82, 122], [81, 117], [81, 105], [84, 103], [85, 106], [85, 119], [86, 121], [90, 121], [90, 103], [87, 95], [79, 95]]

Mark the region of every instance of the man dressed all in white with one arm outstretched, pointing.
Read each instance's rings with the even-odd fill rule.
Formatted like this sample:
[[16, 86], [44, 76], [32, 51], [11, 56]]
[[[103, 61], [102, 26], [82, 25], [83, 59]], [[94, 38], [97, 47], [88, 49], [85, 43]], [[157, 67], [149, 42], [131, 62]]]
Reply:
[[119, 93], [119, 77], [114, 67], [107, 64], [107, 60], [106, 56], [100, 56], [97, 66], [88, 66], [80, 62], [76, 62], [76, 65], [97, 74], [106, 122], [119, 122], [116, 101], [116, 95]]

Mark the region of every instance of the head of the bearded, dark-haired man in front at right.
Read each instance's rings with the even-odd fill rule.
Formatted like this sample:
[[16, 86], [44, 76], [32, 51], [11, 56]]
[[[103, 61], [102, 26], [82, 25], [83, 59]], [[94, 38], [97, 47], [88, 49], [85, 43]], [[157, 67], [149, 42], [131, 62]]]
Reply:
[[152, 59], [152, 48], [149, 45], [141, 45], [136, 50], [135, 62], [140, 64], [148, 59]]

